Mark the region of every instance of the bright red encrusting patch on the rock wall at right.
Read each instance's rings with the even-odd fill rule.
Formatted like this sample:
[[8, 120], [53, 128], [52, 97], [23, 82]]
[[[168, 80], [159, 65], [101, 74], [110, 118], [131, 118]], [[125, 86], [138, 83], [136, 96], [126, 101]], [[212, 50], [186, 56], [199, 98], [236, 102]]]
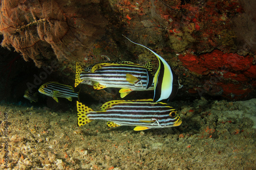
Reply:
[[[198, 57], [193, 54], [179, 55], [179, 60], [190, 71], [199, 75], [206, 75], [210, 70], [217, 70], [223, 72], [225, 79], [247, 81], [246, 77], [256, 77], [256, 66], [252, 65], [253, 58], [249, 56], [243, 57], [235, 53], [214, 50]], [[241, 74], [240, 71], [244, 71], [244, 73]]]

